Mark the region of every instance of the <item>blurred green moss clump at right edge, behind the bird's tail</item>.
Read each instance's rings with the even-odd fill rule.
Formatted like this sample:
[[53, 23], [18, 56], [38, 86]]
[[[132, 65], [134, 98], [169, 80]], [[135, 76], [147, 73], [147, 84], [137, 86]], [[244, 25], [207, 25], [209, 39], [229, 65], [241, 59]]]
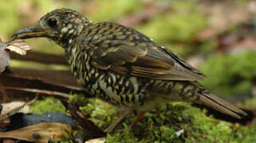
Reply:
[[250, 95], [256, 79], [256, 52], [216, 55], [200, 67], [209, 80], [203, 84], [218, 95]]

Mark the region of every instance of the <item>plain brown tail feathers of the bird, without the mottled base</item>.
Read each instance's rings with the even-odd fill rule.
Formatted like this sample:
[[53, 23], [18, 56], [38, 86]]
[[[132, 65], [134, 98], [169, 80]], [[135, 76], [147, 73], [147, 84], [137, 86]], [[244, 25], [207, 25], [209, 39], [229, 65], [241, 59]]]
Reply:
[[234, 106], [230, 102], [226, 102], [224, 99], [211, 93], [199, 92], [199, 102], [234, 118], [241, 119], [242, 116], [247, 115], [246, 112], [239, 109], [237, 106]]

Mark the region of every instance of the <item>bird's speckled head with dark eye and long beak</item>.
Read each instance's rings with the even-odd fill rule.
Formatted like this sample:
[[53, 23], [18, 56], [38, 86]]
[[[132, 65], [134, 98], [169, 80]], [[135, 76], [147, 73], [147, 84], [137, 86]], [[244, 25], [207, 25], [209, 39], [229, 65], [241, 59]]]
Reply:
[[18, 30], [14, 39], [47, 37], [57, 44], [65, 45], [81, 34], [91, 23], [86, 17], [70, 9], [57, 9], [45, 14], [36, 25]]

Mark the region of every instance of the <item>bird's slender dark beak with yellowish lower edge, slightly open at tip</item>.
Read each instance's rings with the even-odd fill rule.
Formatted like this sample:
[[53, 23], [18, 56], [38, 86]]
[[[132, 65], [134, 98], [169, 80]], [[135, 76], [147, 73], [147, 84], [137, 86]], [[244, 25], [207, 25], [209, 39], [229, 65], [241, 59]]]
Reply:
[[26, 29], [20, 29], [14, 33], [13, 39], [27, 39], [33, 37], [47, 37], [49, 35], [49, 29], [41, 27], [41, 25], [34, 25], [27, 27]]

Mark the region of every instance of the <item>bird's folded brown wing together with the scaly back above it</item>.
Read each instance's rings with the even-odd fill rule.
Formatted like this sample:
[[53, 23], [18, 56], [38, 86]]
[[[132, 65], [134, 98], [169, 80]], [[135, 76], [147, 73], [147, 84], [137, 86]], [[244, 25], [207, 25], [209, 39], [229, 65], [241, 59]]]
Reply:
[[142, 33], [121, 25], [114, 26], [125, 30], [121, 33], [119, 31], [122, 30], [118, 30], [112, 35], [100, 33], [95, 36], [99, 37], [99, 40], [91, 39], [89, 42], [89, 48], [93, 49], [91, 64], [95, 68], [150, 79], [204, 79], [202, 72]]

